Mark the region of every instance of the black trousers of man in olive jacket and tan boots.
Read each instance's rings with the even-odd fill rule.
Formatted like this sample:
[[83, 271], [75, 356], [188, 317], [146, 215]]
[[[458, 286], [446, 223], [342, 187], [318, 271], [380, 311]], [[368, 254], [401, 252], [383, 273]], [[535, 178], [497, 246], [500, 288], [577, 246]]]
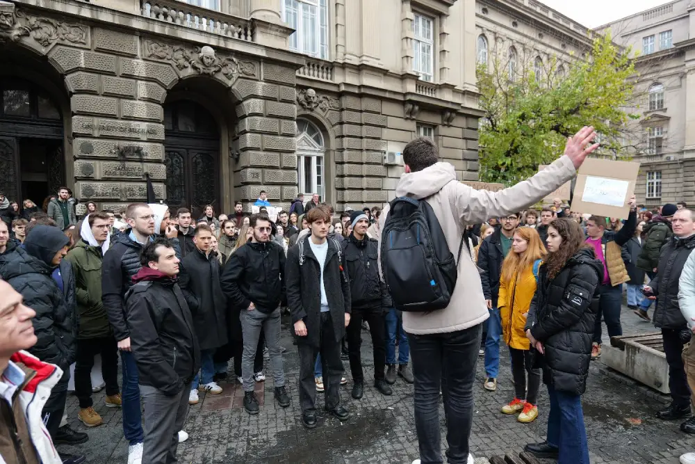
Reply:
[[92, 403], [92, 367], [94, 357], [101, 354], [101, 376], [106, 383], [106, 394], [118, 394], [118, 347], [113, 337], [77, 339], [75, 359], [75, 394], [80, 408]]

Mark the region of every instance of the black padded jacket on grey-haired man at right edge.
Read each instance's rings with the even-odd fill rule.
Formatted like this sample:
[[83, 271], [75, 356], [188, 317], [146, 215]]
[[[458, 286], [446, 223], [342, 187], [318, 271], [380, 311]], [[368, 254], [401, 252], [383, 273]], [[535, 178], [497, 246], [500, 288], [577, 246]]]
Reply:
[[659, 271], [649, 282], [649, 287], [657, 297], [653, 317], [657, 328], [685, 328], [685, 318], [678, 305], [678, 282], [693, 248], [695, 235], [687, 239], [678, 239], [674, 235], [661, 249]]

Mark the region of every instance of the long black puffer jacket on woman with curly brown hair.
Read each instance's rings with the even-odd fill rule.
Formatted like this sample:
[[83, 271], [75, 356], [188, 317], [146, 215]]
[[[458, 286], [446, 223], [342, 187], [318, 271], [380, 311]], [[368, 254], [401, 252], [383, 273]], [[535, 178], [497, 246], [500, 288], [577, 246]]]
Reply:
[[603, 264], [596, 259], [594, 250], [582, 248], [553, 280], [548, 280], [547, 271], [547, 266], [541, 265], [526, 328], [543, 342], [543, 383], [561, 392], [583, 394], [587, 389]]

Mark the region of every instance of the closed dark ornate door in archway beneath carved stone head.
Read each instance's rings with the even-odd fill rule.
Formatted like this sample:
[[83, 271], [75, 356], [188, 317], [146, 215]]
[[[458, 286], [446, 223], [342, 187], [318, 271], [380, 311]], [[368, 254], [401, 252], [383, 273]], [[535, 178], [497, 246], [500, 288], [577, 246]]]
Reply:
[[205, 205], [220, 207], [220, 133], [203, 106], [190, 100], [164, 104], [166, 204], [186, 207], [193, 218]]

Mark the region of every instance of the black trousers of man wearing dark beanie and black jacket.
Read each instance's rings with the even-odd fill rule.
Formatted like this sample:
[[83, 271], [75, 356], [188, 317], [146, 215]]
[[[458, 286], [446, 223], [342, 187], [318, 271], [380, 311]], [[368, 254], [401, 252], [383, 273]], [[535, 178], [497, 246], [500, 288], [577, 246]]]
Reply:
[[362, 360], [359, 353], [362, 344], [362, 320], [369, 323], [369, 332], [372, 335], [374, 349], [374, 379], [384, 379], [386, 367], [386, 340], [384, 339], [384, 314], [381, 308], [376, 311], [355, 310], [350, 314], [350, 325], [347, 326], [347, 353], [350, 357], [350, 371], [354, 383], [362, 383]]

